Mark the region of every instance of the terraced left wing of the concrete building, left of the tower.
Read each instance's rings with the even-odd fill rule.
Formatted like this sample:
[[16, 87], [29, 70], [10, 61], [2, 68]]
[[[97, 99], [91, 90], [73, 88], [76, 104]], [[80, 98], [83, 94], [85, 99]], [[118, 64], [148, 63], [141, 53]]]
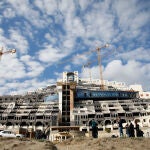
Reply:
[[57, 101], [49, 101], [56, 93], [56, 86], [49, 86], [24, 95], [0, 96], [0, 128], [33, 130], [58, 126]]

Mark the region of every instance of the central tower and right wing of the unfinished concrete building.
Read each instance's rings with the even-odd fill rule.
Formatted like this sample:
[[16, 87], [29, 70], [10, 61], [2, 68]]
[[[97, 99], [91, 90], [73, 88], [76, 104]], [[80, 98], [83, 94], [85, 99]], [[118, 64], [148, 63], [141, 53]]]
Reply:
[[150, 127], [150, 99], [139, 98], [139, 92], [124, 83], [106, 83], [102, 91], [98, 81], [89, 83], [79, 80], [78, 72], [64, 72], [63, 80], [57, 82], [60, 124], [89, 130], [89, 122], [95, 119], [99, 130], [114, 130], [121, 116], [124, 123], [137, 119], [140, 126]]

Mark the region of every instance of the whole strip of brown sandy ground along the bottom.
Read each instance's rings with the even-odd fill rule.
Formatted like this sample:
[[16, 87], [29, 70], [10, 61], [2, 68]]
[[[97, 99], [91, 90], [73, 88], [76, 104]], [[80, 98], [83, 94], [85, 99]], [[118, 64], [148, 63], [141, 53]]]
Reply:
[[76, 137], [61, 143], [0, 138], [0, 150], [149, 150], [150, 138]]

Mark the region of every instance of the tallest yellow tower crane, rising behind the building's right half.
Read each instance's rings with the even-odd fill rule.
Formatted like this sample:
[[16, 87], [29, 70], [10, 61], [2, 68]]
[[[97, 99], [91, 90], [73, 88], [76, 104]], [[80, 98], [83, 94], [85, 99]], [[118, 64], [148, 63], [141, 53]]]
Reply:
[[104, 90], [104, 80], [103, 80], [103, 71], [102, 71], [102, 65], [101, 65], [101, 49], [102, 48], [106, 48], [109, 47], [109, 44], [105, 44], [102, 47], [97, 47], [96, 51], [97, 51], [97, 56], [98, 56], [98, 66], [99, 66], [99, 71], [100, 71], [100, 89]]

